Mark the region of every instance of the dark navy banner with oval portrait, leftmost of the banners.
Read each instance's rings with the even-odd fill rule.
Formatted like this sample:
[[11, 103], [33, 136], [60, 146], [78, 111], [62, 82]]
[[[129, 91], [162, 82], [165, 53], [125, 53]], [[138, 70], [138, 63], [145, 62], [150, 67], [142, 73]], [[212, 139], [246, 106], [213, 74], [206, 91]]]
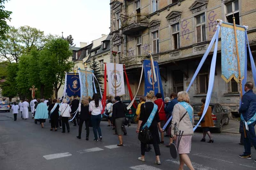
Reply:
[[80, 95], [80, 81], [78, 73], [67, 73], [66, 74], [66, 96], [70, 98], [72, 96]]

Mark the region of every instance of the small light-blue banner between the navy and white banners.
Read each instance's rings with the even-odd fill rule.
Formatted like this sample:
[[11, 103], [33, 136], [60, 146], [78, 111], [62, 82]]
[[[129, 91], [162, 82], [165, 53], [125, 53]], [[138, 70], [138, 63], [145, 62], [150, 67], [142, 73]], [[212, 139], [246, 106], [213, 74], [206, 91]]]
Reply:
[[79, 69], [81, 96], [91, 97], [93, 95], [92, 71]]

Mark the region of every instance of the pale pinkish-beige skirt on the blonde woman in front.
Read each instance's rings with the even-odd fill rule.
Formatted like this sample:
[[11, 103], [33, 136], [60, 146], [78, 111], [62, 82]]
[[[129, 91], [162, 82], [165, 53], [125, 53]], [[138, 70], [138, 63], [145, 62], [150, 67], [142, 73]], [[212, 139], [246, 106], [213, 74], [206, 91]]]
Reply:
[[192, 135], [183, 135], [180, 140], [180, 146], [178, 148], [178, 135], [177, 140], [175, 141], [175, 145], [178, 149], [178, 154], [188, 154], [191, 151], [191, 140]]

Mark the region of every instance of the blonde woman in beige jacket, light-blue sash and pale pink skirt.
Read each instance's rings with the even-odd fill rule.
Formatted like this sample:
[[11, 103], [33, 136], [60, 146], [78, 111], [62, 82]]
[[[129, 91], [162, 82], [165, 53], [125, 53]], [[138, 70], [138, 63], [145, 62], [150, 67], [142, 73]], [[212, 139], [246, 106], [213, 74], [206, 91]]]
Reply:
[[[190, 170], [194, 170], [193, 165], [191, 163], [190, 158], [188, 157], [188, 153], [191, 150], [191, 139], [194, 125], [194, 116], [193, 116], [193, 108], [189, 104], [190, 97], [188, 93], [185, 91], [178, 92], [178, 103], [173, 107], [172, 112], [172, 138], [175, 140], [176, 146], [178, 147], [178, 143], [180, 143], [178, 148], [178, 154], [180, 155], [180, 166], [179, 170], [183, 170], [184, 164]], [[181, 140], [178, 141], [177, 135], [179, 132], [175, 132], [175, 126], [183, 132]]]

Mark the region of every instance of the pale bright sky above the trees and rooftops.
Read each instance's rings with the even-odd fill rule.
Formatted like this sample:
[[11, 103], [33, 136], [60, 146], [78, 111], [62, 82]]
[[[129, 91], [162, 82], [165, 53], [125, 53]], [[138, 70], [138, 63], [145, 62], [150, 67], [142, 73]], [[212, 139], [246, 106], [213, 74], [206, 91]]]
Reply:
[[110, 32], [110, 0], [10, 0], [5, 10], [12, 11], [8, 25], [24, 25], [45, 35], [72, 35], [73, 43], [91, 43]]

